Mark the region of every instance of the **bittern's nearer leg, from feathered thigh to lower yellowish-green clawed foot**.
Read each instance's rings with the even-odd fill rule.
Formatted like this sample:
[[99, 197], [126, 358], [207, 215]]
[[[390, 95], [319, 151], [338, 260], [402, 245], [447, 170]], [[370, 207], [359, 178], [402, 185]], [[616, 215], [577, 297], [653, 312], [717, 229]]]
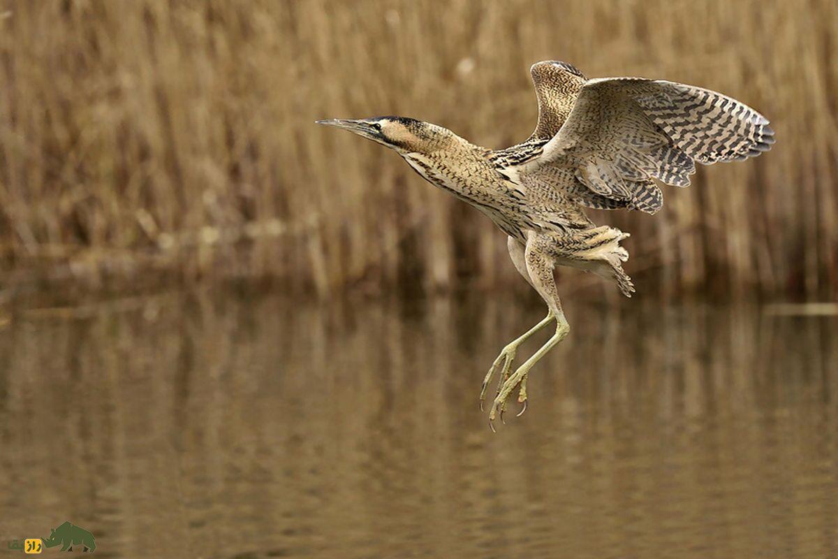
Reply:
[[[513, 261], [515, 261], [515, 258], [513, 258]], [[553, 346], [561, 342], [561, 340], [564, 339], [570, 332], [570, 325], [567, 323], [565, 315], [561, 310], [561, 302], [559, 301], [558, 292], [556, 291], [556, 280], [553, 277], [554, 262], [551, 257], [551, 246], [549, 245], [549, 240], [530, 232], [525, 246], [524, 262], [527, 279], [530, 280], [530, 283], [533, 287], [535, 287], [535, 290], [539, 293], [539, 295], [541, 295], [541, 298], [544, 298], [547, 303], [547, 307], [550, 309], [550, 313], [548, 313], [547, 317], [556, 319], [556, 333], [553, 334], [551, 338], [546, 341], [546, 344], [542, 345], [541, 348], [535, 352], [535, 354], [530, 356], [530, 359], [526, 360], [523, 365], [520, 365], [520, 367], [515, 370], [514, 374], [503, 380], [503, 385], [500, 386], [498, 395], [494, 398], [494, 402], [492, 403], [492, 409], [489, 411], [489, 426], [492, 427], [493, 431], [494, 426], [492, 426], [492, 422], [494, 422], [494, 418], [497, 416], [498, 412], [503, 415], [503, 412], [506, 409], [506, 401], [509, 398], [510, 393], [515, 390], [516, 386], [520, 386], [518, 401], [522, 403], [526, 402], [526, 381], [527, 376], [530, 374], [530, 369], [532, 369], [535, 363], [541, 360], [541, 358], [544, 357], [544, 355], [546, 355], [546, 353], [550, 351]], [[551, 315], [553, 316], [551, 317]], [[547, 320], [547, 318], [545, 318], [545, 320]], [[542, 320], [541, 323], [536, 325], [536, 328], [543, 327], [546, 324], [545, 320]], [[533, 330], [527, 332], [527, 334], [530, 335], [533, 333]]]

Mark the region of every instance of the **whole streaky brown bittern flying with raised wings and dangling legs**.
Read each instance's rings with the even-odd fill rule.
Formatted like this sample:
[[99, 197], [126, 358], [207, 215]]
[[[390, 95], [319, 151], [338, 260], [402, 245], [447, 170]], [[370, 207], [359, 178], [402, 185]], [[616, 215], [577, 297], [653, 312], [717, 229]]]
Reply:
[[[655, 179], [684, 187], [696, 162], [755, 157], [774, 142], [764, 116], [716, 91], [643, 78], [587, 80], [557, 61], [539, 62], [530, 74], [538, 122], [511, 148], [481, 148], [447, 128], [403, 116], [318, 121], [396, 150], [422, 178], [488, 215], [508, 236], [515, 268], [546, 302], [546, 317], [507, 344], [484, 378], [481, 409], [500, 371], [489, 411], [493, 431], [516, 389], [525, 411], [530, 370], [570, 331], [556, 266], [612, 279], [626, 297], [634, 292], [622, 266], [629, 253], [620, 246], [629, 234], [595, 225], [584, 209], [654, 214], [663, 205]], [[551, 338], [512, 372], [520, 344], [553, 322]]]

